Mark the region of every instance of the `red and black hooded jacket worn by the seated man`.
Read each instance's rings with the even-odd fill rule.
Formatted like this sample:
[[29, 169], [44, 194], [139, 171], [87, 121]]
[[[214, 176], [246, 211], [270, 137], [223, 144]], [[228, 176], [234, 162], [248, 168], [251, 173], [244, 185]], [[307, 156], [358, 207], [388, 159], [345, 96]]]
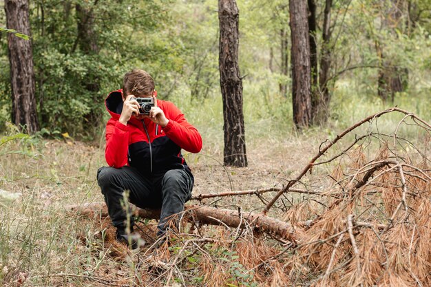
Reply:
[[173, 103], [157, 100], [169, 123], [165, 128], [148, 118], [137, 120], [132, 116], [127, 125], [118, 122], [123, 110], [121, 89], [111, 92], [105, 105], [110, 118], [106, 125], [105, 158], [110, 167], [126, 164], [136, 167], [144, 175], [164, 173], [170, 169], [188, 169], [181, 149], [198, 153], [202, 138], [198, 130], [187, 123], [184, 114]]

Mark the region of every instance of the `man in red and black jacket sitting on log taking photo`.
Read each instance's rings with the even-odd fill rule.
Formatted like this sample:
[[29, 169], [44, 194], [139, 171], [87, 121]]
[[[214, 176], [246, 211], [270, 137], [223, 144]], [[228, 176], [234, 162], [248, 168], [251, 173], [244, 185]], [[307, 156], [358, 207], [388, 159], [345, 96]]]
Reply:
[[[158, 236], [191, 198], [193, 175], [181, 149], [198, 153], [202, 138], [171, 102], [156, 99], [151, 76], [143, 70], [125, 74], [123, 89], [111, 92], [105, 105], [111, 118], [106, 125], [105, 158], [109, 167], [97, 172], [117, 240], [132, 244], [133, 218], [122, 205], [128, 200], [140, 208], [161, 208]], [[136, 98], [154, 98], [149, 114], [140, 114]], [[174, 216], [173, 216], [174, 215]], [[128, 221], [128, 222], [127, 222]], [[131, 230], [127, 230], [130, 226]], [[178, 220], [174, 220], [178, 227]]]

